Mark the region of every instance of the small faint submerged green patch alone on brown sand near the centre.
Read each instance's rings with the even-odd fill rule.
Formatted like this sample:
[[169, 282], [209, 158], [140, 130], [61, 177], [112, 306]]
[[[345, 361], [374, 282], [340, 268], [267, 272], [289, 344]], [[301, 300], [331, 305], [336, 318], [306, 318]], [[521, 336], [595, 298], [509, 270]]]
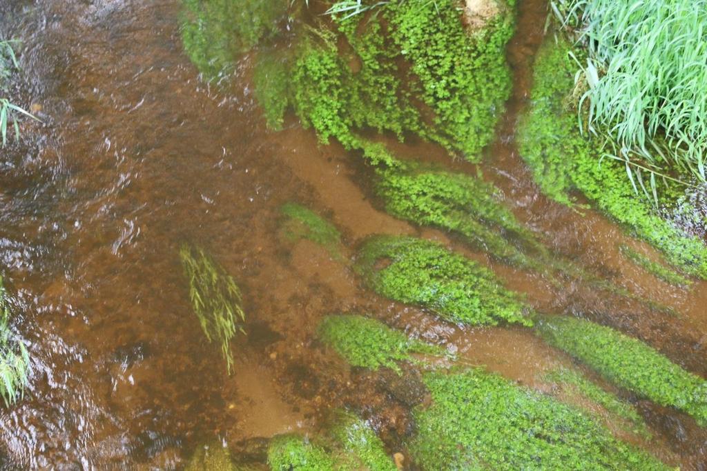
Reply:
[[341, 260], [341, 233], [329, 221], [297, 203], [285, 203], [280, 211], [288, 220], [284, 225], [286, 237], [308, 239], [318, 244], [336, 260]]

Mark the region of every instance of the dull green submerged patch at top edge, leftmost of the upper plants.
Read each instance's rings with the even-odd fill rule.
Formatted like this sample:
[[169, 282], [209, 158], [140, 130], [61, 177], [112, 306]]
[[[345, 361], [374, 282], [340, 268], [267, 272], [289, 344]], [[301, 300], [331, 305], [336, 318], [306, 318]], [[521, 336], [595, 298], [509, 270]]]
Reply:
[[182, 0], [184, 49], [211, 80], [230, 71], [240, 54], [277, 34], [287, 13], [281, 0]]

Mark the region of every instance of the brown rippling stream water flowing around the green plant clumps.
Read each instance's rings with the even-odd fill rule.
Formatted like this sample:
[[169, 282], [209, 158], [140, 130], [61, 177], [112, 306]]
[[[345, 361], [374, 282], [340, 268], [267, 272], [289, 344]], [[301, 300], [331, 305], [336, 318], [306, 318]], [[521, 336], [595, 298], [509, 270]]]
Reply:
[[[397, 451], [411, 427], [404, 401], [385, 378], [349, 372], [313, 340], [332, 312], [369, 313], [542, 390], [544, 371], [572, 364], [525, 331], [450, 326], [364, 290], [325, 249], [278, 236], [286, 201], [343, 229], [347, 255], [369, 234], [447, 242], [539, 309], [581, 311], [707, 376], [707, 284], [682, 290], [630, 266], [619, 244], [653, 252], [592, 210], [549, 202], [522, 165], [515, 121], [547, 6], [518, 3], [508, 51], [515, 88], [482, 165], [486, 179], [559, 254], [677, 315], [578, 282], [558, 288], [386, 215], [355, 155], [317, 145], [293, 117], [285, 131], [266, 129], [249, 57], [225, 90], [199, 81], [182, 50], [178, 0], [0, 0], [1, 35], [24, 41], [15, 91], [45, 121], [27, 123], [22, 143], [1, 151], [0, 262], [33, 357], [25, 399], [0, 409], [4, 468], [172, 469], [214, 438], [258, 455], [262, 439], [314, 429], [341, 405], [370, 419]], [[431, 145], [397, 150], [476, 172]], [[248, 335], [237, 339], [233, 376], [191, 310], [182, 242], [211, 251], [245, 294]], [[704, 431], [650, 403], [638, 409], [655, 453], [704, 469]]]

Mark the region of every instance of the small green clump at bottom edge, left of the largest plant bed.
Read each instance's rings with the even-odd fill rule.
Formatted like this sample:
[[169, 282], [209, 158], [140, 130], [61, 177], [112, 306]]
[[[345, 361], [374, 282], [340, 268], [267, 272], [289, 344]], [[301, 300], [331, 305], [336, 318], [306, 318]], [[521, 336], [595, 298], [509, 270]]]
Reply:
[[308, 439], [296, 434], [274, 437], [268, 450], [271, 470], [395, 471], [382, 441], [366, 422], [338, 411], [332, 423]]

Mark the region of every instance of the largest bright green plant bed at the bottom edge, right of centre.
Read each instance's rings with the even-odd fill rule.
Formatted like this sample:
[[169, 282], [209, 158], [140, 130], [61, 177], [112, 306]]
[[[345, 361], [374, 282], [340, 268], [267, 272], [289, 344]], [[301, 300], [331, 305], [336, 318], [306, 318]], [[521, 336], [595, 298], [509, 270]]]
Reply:
[[428, 470], [668, 470], [578, 410], [481, 369], [423, 376], [412, 458]]

